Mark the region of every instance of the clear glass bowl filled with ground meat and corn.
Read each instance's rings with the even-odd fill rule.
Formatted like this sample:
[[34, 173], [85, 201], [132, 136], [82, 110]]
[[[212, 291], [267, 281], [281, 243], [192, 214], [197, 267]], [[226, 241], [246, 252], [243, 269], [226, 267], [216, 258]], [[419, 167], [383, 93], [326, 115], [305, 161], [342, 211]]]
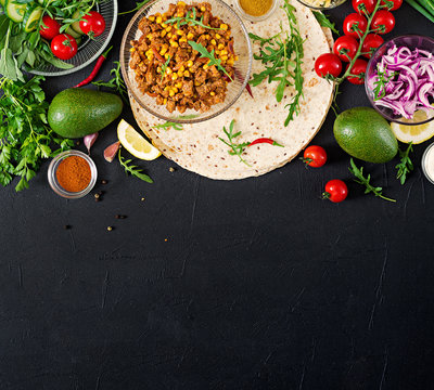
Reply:
[[144, 109], [194, 123], [224, 113], [243, 93], [252, 46], [241, 18], [221, 0], [153, 0], [129, 23], [120, 64]]

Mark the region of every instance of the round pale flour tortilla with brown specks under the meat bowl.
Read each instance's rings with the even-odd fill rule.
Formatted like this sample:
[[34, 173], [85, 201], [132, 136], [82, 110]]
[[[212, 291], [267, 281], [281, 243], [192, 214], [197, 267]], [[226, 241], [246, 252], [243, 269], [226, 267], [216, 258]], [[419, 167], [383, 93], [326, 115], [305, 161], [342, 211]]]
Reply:
[[[228, 1], [233, 6], [231, 1]], [[284, 120], [288, 108], [295, 93], [293, 87], [288, 87], [285, 98], [277, 103], [275, 96], [276, 83], [263, 82], [253, 88], [255, 99], [244, 92], [239, 101], [218, 117], [201, 123], [183, 125], [182, 131], [174, 129], [155, 129], [155, 125], [164, 123], [143, 109], [130, 95], [131, 108], [142, 131], [153, 144], [169, 159], [179, 166], [201, 176], [216, 180], [237, 180], [257, 177], [280, 168], [291, 161], [304, 150], [321, 128], [329, 112], [332, 95], [332, 83], [319, 78], [315, 73], [315, 60], [330, 51], [333, 38], [328, 30], [326, 37], [311, 11], [293, 0], [296, 9], [299, 31], [303, 38], [305, 57], [303, 65], [304, 100], [301, 113], [288, 127]], [[279, 9], [269, 20], [261, 23], [246, 23], [251, 32], [260, 37], [270, 37], [279, 32], [279, 24], [289, 29], [288, 18]], [[258, 47], [254, 46], [254, 52]], [[264, 66], [253, 63], [253, 73], [260, 73]], [[243, 158], [251, 165], [240, 162], [238, 156], [228, 154], [228, 146], [219, 138], [225, 138], [222, 127], [229, 127], [235, 119], [235, 131], [242, 131], [238, 143], [251, 142], [255, 139], [271, 138], [284, 147], [257, 145], [248, 148]]]

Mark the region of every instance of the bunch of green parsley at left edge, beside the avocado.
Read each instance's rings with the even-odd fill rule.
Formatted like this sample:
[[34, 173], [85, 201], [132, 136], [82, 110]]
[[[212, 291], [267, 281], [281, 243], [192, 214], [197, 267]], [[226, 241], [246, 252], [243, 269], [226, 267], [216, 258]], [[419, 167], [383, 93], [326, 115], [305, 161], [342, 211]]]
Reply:
[[[48, 125], [49, 104], [40, 86], [43, 80], [41, 76], [26, 82], [0, 79], [0, 184], [5, 186], [17, 176], [21, 180], [16, 191], [28, 188], [42, 159], [74, 145], [73, 141], [59, 138]], [[58, 150], [53, 151], [53, 145]]]

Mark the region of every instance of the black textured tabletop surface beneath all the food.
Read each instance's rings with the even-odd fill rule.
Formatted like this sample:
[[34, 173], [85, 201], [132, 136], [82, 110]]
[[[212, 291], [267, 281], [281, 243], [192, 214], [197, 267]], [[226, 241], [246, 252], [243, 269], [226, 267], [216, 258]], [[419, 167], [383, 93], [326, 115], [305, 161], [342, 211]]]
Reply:
[[[340, 25], [349, 10], [330, 15]], [[408, 5], [395, 15], [388, 38], [434, 35]], [[48, 80], [49, 98], [89, 72]], [[339, 104], [369, 105], [347, 83]], [[222, 182], [159, 158], [140, 164], [149, 185], [104, 161], [113, 125], [92, 150], [102, 202], [56, 196], [48, 162], [30, 190], [1, 190], [0, 389], [432, 389], [429, 143], [405, 186], [396, 161], [366, 164], [391, 204], [352, 183], [333, 119], [315, 139], [330, 156], [318, 170]], [[319, 199], [334, 178], [350, 191], [341, 205]]]

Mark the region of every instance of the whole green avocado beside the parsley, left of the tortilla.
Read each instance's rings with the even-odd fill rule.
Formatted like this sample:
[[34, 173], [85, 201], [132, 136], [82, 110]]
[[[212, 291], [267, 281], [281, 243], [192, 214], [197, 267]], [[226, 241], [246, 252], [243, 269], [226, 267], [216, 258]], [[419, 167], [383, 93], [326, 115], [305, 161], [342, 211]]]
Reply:
[[113, 93], [71, 88], [51, 102], [48, 122], [59, 135], [82, 138], [107, 127], [120, 115], [123, 107], [122, 99]]

